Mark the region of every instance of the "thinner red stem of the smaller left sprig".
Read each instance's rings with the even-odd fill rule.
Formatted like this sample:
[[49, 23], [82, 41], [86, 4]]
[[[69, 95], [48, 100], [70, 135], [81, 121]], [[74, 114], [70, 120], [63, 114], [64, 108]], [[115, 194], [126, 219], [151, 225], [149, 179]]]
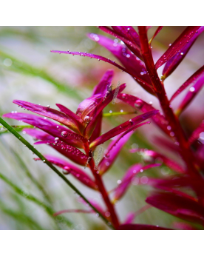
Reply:
[[[84, 149], [85, 149], [85, 152], [86, 152], [86, 155], [88, 157], [90, 157], [90, 149], [89, 149], [89, 144], [86, 142], [84, 143]], [[92, 154], [92, 153], [91, 153]], [[90, 158], [90, 161], [89, 161], [89, 167], [92, 171], [92, 174], [94, 175], [95, 177], [95, 183], [97, 184], [98, 186], [98, 190], [101, 192], [101, 195], [103, 197], [103, 200], [104, 202], [106, 203], [106, 206], [109, 210], [109, 213], [110, 213], [110, 218], [112, 220], [112, 224], [113, 226], [115, 227], [115, 229], [118, 229], [118, 226], [120, 225], [119, 221], [118, 221], [118, 216], [116, 215], [115, 213], [115, 208], [114, 208], [114, 205], [111, 203], [111, 201], [109, 200], [109, 195], [108, 193], [106, 192], [106, 189], [103, 185], [103, 181], [101, 179], [101, 175], [98, 174], [97, 170], [95, 170], [95, 162], [92, 158], [92, 155], [91, 155], [91, 158]]]

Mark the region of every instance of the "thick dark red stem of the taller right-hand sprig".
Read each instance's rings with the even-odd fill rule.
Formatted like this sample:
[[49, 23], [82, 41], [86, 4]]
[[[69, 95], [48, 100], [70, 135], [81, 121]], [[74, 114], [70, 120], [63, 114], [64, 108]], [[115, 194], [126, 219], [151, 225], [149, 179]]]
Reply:
[[[194, 163], [194, 155], [191, 152], [191, 149], [188, 146], [188, 141], [184, 135], [183, 129], [180, 126], [180, 122], [176, 115], [174, 115], [173, 110], [171, 109], [171, 105], [169, 104], [169, 99], [167, 98], [166, 91], [163, 86], [163, 82], [160, 81], [160, 78], [157, 74], [157, 70], [155, 69], [154, 60], [152, 57], [152, 50], [149, 46], [146, 27], [139, 26], [139, 36], [140, 36], [140, 44], [143, 55], [143, 60], [146, 64], [146, 70], [149, 73], [149, 78], [152, 81], [152, 86], [154, 87], [154, 91], [157, 95], [158, 100], [160, 101], [160, 107], [162, 108], [166, 120], [169, 121], [169, 126], [171, 127], [172, 132], [174, 132], [174, 136], [177, 139], [177, 142], [180, 146], [180, 155], [183, 158], [183, 161], [186, 163], [187, 171], [189, 175], [193, 178], [197, 178], [197, 181], [200, 181], [200, 174]], [[197, 188], [194, 188], [197, 191]], [[203, 194], [203, 191], [200, 193], [197, 191], [197, 195], [200, 198], [200, 195]], [[203, 202], [204, 203], [204, 202]]]

